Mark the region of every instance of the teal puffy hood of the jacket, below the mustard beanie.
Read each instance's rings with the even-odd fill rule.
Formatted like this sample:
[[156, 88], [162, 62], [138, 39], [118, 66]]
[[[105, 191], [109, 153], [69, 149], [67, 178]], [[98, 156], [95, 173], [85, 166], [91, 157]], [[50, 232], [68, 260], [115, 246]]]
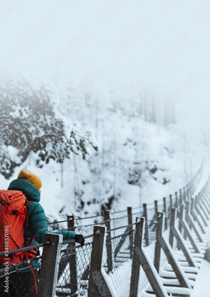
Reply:
[[26, 199], [40, 202], [40, 192], [29, 181], [24, 179], [15, 179], [11, 181], [8, 190], [21, 191], [26, 196]]

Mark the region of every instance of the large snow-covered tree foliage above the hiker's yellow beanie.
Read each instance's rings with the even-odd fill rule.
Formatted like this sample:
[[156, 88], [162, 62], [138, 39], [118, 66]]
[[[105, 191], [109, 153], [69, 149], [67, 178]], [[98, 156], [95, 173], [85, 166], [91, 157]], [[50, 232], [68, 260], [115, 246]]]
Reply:
[[[74, 125], [56, 110], [59, 95], [49, 82], [23, 75], [1, 74], [0, 83], [0, 172], [9, 178], [15, 166], [22, 164], [30, 152], [37, 153], [37, 165], [50, 159], [62, 163], [72, 153], [83, 159], [96, 151], [99, 144], [91, 131], [80, 135], [80, 124]], [[15, 148], [17, 156], [10, 154]]]

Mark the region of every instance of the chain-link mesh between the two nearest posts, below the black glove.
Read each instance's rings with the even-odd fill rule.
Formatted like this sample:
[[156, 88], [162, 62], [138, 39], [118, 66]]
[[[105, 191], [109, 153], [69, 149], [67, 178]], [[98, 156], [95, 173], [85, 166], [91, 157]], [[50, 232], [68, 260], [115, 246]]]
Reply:
[[92, 244], [61, 250], [56, 296], [87, 296]]

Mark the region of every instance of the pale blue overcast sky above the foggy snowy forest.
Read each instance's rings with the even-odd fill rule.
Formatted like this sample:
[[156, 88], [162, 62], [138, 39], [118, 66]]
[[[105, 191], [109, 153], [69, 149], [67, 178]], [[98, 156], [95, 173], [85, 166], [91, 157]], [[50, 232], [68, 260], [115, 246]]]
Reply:
[[2, 0], [0, 13], [2, 68], [60, 78], [99, 70], [110, 78], [144, 78], [167, 96], [197, 74], [179, 104], [195, 106], [198, 117], [210, 109], [207, 0]]

